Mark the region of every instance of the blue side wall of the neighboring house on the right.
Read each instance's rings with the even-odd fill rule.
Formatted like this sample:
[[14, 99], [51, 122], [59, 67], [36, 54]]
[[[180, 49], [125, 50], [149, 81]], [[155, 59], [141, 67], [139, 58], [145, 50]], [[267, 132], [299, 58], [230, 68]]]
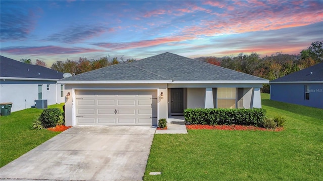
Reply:
[[[305, 99], [305, 85], [309, 100]], [[323, 83], [272, 83], [271, 100], [323, 109]]]

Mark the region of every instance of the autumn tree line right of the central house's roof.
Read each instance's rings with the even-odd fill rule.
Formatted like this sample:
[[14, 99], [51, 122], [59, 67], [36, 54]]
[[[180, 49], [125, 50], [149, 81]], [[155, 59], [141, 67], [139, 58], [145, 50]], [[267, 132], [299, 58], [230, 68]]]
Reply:
[[[323, 62], [323, 42], [313, 42], [307, 49], [302, 50], [298, 55], [278, 52], [271, 56], [266, 55], [261, 58], [257, 53], [251, 53], [250, 55], [240, 53], [237, 56], [208, 56], [195, 59], [261, 78], [274, 80], [289, 73]], [[263, 85], [262, 92], [269, 93], [269, 91], [270, 86], [268, 84]]]

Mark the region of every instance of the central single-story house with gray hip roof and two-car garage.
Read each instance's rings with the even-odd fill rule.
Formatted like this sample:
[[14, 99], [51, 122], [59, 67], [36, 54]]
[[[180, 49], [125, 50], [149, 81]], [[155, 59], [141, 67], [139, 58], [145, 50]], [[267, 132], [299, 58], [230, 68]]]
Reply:
[[58, 80], [67, 126], [157, 125], [186, 108], [261, 108], [260, 87], [268, 82], [172, 53]]

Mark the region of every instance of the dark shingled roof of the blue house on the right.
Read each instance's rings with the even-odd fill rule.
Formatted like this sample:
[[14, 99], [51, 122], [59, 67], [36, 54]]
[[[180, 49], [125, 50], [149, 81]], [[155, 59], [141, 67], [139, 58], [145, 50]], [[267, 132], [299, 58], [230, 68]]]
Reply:
[[304, 68], [300, 71], [290, 73], [283, 77], [270, 81], [270, 83], [282, 83], [282, 82], [323, 82], [323, 62], [313, 65], [308, 68]]

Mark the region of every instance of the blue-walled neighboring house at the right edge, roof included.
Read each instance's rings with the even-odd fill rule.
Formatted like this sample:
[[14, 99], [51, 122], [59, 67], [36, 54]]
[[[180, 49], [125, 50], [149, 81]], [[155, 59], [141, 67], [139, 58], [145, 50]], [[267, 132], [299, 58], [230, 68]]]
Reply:
[[271, 100], [323, 109], [323, 63], [270, 81]]

